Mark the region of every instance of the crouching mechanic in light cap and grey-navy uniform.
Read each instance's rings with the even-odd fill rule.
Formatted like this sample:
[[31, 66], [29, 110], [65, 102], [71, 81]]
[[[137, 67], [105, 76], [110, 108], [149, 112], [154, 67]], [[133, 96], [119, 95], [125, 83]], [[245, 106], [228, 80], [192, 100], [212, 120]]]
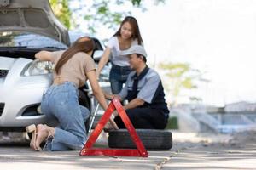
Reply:
[[[134, 45], [122, 53], [128, 55], [132, 71], [119, 94], [105, 94], [105, 97], [129, 101], [124, 109], [135, 128], [164, 129], [169, 110], [160, 76], [146, 65], [147, 54], [143, 46]], [[118, 127], [125, 128], [120, 116], [117, 113], [115, 116]]]

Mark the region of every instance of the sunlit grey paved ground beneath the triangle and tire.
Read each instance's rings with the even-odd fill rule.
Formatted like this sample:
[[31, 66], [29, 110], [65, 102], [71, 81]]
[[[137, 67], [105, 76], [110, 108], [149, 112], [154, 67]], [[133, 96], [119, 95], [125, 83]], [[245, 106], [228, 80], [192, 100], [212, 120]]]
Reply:
[[[0, 139], [1, 169], [256, 169], [256, 133], [173, 132], [173, 147], [148, 158], [79, 156], [78, 151], [38, 152], [28, 143]], [[102, 136], [97, 144], [106, 144]], [[105, 145], [107, 147], [107, 144]]]

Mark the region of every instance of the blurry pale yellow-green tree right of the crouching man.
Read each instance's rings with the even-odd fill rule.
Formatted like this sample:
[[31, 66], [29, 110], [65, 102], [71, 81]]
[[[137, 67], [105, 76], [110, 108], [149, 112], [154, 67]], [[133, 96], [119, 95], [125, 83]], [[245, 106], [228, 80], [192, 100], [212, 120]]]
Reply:
[[[177, 97], [183, 89], [195, 89], [196, 82], [201, 81], [201, 71], [191, 68], [188, 63], [160, 63], [159, 67], [168, 78], [168, 83], [164, 86], [168, 94], [172, 95], [173, 105], [177, 104]], [[201, 100], [194, 96], [190, 96], [189, 99]]]

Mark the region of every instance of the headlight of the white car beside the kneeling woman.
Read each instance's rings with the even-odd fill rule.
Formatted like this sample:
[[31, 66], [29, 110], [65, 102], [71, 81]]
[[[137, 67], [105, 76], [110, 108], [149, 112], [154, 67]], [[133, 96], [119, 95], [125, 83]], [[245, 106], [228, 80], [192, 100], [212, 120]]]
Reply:
[[22, 75], [26, 77], [44, 75], [53, 72], [53, 69], [54, 65], [52, 64], [52, 62], [40, 61], [36, 59], [26, 65], [24, 71], [22, 71]]

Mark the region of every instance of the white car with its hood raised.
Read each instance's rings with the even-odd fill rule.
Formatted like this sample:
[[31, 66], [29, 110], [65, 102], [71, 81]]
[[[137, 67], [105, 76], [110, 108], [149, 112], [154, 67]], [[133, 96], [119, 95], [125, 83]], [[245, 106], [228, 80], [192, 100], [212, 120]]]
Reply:
[[[79, 34], [70, 36], [55, 18], [48, 0], [0, 1], [0, 131], [24, 131], [32, 123], [54, 124], [37, 111], [52, 82], [53, 65], [35, 61], [34, 54], [42, 49], [66, 49], [70, 39]], [[94, 40], [97, 60], [104, 46]], [[108, 67], [104, 80], [108, 80], [106, 75]], [[89, 84], [80, 88], [79, 102], [94, 110], [95, 99], [90, 93]]]

